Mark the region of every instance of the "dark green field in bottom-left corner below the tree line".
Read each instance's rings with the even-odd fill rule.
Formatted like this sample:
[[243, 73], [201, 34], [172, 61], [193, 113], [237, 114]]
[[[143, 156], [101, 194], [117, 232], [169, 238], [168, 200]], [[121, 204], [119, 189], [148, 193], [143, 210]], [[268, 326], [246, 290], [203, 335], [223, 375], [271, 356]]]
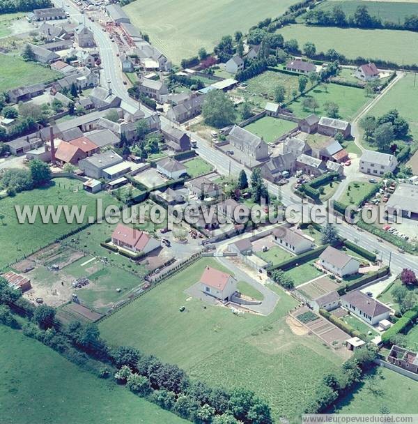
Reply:
[[187, 423], [16, 330], [0, 338], [2, 424]]

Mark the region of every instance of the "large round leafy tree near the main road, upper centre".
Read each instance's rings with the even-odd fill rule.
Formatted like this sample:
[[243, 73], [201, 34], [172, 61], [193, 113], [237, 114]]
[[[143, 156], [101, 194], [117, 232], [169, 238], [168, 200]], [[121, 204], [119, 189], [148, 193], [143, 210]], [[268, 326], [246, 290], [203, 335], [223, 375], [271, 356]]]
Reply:
[[212, 90], [206, 94], [202, 115], [205, 122], [215, 128], [231, 125], [236, 118], [233, 101], [222, 90]]

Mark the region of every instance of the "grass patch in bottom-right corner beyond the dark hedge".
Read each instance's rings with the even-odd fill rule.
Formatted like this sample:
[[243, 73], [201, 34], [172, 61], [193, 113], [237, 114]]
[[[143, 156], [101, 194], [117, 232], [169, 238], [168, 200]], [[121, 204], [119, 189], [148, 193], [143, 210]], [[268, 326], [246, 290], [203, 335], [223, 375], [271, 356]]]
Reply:
[[[408, 393], [408, 395], [405, 395]], [[379, 367], [353, 393], [341, 398], [334, 412], [338, 414], [380, 414], [387, 407], [391, 414], [418, 414], [418, 381]]]

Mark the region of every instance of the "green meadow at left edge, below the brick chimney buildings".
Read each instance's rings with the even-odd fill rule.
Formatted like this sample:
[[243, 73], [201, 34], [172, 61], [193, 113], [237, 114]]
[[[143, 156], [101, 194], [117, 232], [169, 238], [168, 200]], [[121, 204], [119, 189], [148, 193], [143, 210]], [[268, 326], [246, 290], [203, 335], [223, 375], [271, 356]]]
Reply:
[[[101, 198], [104, 208], [109, 204], [118, 204], [106, 193], [92, 195], [82, 188], [82, 183], [73, 179], [54, 179], [52, 185], [47, 188], [40, 188], [26, 192], [17, 193], [15, 197], [6, 197], [0, 200], [0, 209], [4, 213], [4, 225], [0, 232], [0, 266], [12, 262], [14, 259], [28, 255], [45, 245], [52, 243], [57, 237], [67, 234], [79, 227], [74, 220], [71, 224], [66, 222], [65, 215], [61, 213], [58, 223], [43, 224], [40, 214], [33, 224], [27, 221], [20, 224], [15, 213], [15, 205], [21, 208], [24, 205], [43, 205], [57, 206], [62, 205], [86, 205], [84, 221], [87, 222], [88, 216], [95, 216], [96, 201]], [[17, 238], [16, 234], [19, 234]]]

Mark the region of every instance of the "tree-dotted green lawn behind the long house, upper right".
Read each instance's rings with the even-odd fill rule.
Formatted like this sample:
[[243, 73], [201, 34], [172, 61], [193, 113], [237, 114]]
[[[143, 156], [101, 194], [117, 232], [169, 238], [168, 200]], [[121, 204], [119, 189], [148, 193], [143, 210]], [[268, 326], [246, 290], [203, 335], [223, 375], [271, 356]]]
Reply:
[[[311, 97], [316, 100], [319, 107], [314, 110], [304, 109], [304, 98]], [[339, 105], [339, 117], [350, 121], [359, 112], [359, 109], [369, 102], [366, 92], [357, 87], [343, 86], [339, 84], [320, 84], [303, 97], [288, 104], [288, 108], [296, 114], [298, 118], [304, 118], [312, 113], [318, 116], [327, 116], [325, 103], [334, 102]]]

